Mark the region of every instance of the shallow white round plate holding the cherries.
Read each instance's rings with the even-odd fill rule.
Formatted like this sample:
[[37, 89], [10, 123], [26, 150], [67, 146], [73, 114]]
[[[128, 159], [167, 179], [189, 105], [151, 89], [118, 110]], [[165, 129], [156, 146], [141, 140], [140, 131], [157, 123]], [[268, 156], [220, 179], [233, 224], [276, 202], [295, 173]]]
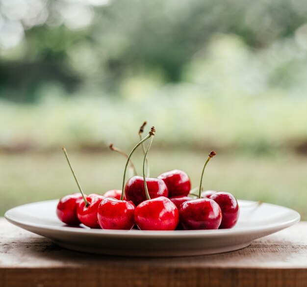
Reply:
[[[22, 205], [8, 210], [11, 223], [48, 237], [55, 244], [76, 251], [123, 256], [189, 256], [244, 248], [262, 236], [300, 220], [292, 209], [239, 200], [240, 217], [232, 229], [197, 231], [101, 230], [69, 227], [57, 219], [58, 200]], [[253, 206], [254, 204], [254, 206]]]

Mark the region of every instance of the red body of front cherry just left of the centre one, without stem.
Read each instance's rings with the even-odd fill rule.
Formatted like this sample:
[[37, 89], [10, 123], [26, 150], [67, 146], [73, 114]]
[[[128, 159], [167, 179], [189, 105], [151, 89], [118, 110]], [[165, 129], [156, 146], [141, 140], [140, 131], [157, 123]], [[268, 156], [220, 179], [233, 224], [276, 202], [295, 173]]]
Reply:
[[134, 226], [132, 202], [107, 197], [98, 207], [98, 222], [102, 229], [130, 230]]

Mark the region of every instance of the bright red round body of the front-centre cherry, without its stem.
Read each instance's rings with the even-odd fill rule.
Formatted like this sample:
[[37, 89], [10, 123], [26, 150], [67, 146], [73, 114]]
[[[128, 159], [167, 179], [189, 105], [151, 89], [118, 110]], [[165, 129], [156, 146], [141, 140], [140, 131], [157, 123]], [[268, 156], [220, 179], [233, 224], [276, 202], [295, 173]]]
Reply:
[[140, 230], [175, 230], [179, 212], [170, 199], [159, 196], [140, 203], [135, 208], [134, 220]]

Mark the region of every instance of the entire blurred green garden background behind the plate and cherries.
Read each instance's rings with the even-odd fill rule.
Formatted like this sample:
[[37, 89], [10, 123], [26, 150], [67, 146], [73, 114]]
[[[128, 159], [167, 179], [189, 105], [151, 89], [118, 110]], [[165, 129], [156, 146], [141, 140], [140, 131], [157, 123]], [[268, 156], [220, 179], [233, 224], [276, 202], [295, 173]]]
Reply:
[[[0, 0], [0, 215], [121, 188], [144, 120], [152, 176], [307, 219], [307, 2]], [[134, 161], [141, 171], [142, 153]]]

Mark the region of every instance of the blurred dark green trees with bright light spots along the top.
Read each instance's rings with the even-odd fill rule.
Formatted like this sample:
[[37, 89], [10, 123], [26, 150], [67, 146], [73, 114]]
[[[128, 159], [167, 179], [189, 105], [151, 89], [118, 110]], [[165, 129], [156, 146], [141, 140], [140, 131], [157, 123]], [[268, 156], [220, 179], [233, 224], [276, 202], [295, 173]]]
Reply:
[[306, 13], [303, 0], [1, 0], [0, 97], [35, 101], [48, 81], [116, 94], [140, 71], [178, 82], [213, 33], [261, 49], [293, 36]]

